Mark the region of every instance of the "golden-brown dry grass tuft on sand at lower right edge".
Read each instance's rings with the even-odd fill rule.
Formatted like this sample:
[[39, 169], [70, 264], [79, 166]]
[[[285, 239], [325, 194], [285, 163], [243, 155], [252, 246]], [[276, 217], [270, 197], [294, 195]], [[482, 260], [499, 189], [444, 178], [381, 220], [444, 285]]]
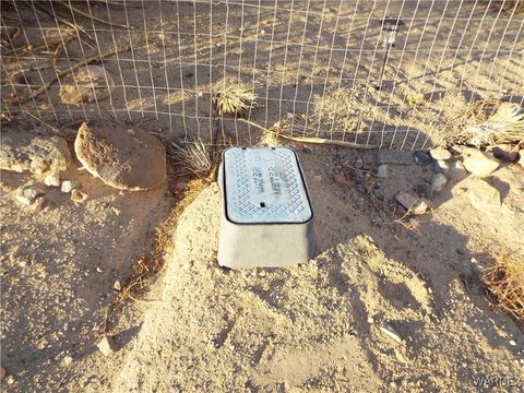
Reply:
[[524, 322], [524, 260], [498, 258], [483, 282], [495, 306]]

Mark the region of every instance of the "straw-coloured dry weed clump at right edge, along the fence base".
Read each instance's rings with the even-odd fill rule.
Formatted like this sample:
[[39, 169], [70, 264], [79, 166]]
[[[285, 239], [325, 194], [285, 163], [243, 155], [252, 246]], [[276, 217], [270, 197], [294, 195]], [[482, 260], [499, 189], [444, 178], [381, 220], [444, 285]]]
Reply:
[[500, 104], [487, 120], [464, 127], [457, 140], [478, 148], [503, 143], [524, 145], [524, 112], [516, 105]]

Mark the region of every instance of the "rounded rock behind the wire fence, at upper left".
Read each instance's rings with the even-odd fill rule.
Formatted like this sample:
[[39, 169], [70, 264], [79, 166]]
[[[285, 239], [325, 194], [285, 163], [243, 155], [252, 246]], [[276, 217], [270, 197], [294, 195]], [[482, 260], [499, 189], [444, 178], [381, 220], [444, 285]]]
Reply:
[[64, 104], [81, 105], [104, 99], [114, 90], [115, 82], [103, 67], [85, 66], [63, 80], [60, 99]]

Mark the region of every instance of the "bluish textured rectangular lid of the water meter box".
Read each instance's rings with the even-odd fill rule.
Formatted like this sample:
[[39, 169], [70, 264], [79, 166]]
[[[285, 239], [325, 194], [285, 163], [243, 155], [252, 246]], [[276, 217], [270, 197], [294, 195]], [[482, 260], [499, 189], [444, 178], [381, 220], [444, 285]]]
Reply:
[[312, 218], [297, 155], [285, 147], [224, 152], [226, 216], [237, 224], [301, 224]]

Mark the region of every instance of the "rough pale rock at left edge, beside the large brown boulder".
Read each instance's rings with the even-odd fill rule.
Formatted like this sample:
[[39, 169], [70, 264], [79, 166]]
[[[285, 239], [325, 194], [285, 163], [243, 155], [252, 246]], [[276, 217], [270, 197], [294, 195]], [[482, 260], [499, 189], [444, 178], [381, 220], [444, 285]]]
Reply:
[[66, 170], [71, 163], [68, 142], [60, 136], [2, 132], [0, 169], [34, 174]]

